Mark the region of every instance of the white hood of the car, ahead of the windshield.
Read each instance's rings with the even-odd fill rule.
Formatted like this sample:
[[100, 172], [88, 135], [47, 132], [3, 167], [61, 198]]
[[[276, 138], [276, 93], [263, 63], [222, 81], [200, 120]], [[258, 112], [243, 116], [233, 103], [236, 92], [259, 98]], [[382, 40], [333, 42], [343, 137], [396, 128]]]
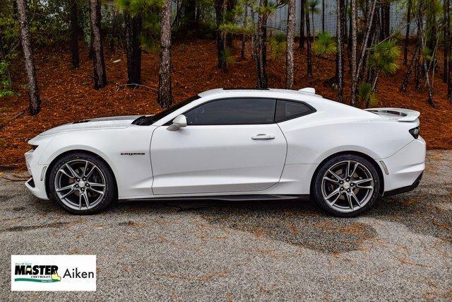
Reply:
[[112, 129], [112, 128], [126, 128], [129, 127], [133, 120], [136, 120], [140, 115], [126, 115], [121, 117], [99, 117], [95, 119], [81, 120], [69, 124], [62, 124], [42, 132], [40, 135], [57, 134], [60, 132], [69, 132], [77, 130], [89, 129]]

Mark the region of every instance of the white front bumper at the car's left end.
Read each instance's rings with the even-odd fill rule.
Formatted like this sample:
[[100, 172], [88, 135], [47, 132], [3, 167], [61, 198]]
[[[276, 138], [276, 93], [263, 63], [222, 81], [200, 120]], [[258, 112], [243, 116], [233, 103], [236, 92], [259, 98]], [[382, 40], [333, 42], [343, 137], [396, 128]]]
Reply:
[[25, 187], [27, 187], [27, 189], [37, 198], [49, 199], [45, 189], [45, 174], [47, 165], [40, 165], [38, 160], [39, 156], [35, 153], [35, 151], [30, 150], [25, 153], [27, 170], [31, 175], [31, 178], [25, 182]]

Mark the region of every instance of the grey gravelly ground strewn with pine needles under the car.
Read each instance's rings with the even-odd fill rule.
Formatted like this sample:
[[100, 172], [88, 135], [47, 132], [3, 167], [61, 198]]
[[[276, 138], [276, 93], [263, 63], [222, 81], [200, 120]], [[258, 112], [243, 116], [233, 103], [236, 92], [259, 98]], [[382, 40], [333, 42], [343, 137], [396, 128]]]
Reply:
[[[452, 299], [452, 151], [355, 219], [313, 202], [119, 202], [66, 214], [0, 180], [0, 300]], [[9, 177], [4, 173], [4, 177]], [[11, 292], [11, 254], [96, 254], [97, 291]]]

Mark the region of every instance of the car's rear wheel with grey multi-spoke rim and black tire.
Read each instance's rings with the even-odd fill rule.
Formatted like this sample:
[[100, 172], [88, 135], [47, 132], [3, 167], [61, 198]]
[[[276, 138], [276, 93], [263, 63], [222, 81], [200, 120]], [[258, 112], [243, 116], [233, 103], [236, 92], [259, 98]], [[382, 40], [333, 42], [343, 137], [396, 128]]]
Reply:
[[379, 173], [366, 158], [340, 155], [323, 163], [314, 180], [319, 206], [335, 216], [357, 216], [379, 197]]

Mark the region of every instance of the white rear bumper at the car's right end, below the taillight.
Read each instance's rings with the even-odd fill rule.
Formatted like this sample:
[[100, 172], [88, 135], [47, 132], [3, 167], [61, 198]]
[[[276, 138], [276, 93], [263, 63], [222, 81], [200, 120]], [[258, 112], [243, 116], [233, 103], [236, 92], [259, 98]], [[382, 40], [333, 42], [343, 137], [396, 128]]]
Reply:
[[377, 160], [383, 171], [383, 195], [388, 196], [388, 194], [393, 195], [415, 189], [425, 169], [425, 154], [425, 141], [419, 137], [393, 156]]

